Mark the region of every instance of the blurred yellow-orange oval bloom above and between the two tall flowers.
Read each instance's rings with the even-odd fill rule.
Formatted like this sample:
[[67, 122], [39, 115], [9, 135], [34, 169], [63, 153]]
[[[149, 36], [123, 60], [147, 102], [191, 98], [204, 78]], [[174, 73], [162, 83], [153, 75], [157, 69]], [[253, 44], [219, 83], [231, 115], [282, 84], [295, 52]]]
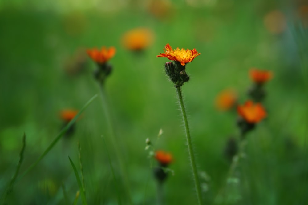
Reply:
[[122, 37], [122, 44], [128, 50], [143, 50], [153, 42], [153, 32], [147, 28], [129, 30]]

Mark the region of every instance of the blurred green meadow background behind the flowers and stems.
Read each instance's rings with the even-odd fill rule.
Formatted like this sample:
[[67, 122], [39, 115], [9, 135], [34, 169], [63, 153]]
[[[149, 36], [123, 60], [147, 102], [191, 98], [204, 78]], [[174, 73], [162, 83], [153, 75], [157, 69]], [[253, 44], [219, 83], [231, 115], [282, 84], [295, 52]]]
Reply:
[[[156, 58], [169, 43], [201, 53], [187, 65], [190, 81], [183, 95], [198, 169], [208, 175], [201, 178], [205, 204], [215, 204], [225, 185], [230, 165], [225, 145], [230, 136], [238, 135], [237, 114], [218, 111], [215, 98], [231, 87], [244, 103], [252, 67], [274, 73], [266, 84], [268, 118], [247, 136], [240, 182], [227, 187], [231, 196], [225, 204], [307, 204], [307, 13], [307, 2], [300, 0], [1, 0], [0, 193], [14, 173], [23, 133], [27, 138], [21, 171], [59, 133], [61, 110], [80, 109], [99, 94], [95, 63], [84, 50], [115, 46], [106, 90], [133, 204], [156, 204], [156, 184], [144, 147], [146, 138], [156, 141], [160, 129], [164, 133], [155, 148], [174, 157], [174, 175], [164, 184], [164, 204], [196, 204], [176, 90], [164, 73], [169, 60]], [[155, 37], [138, 53], [121, 44], [123, 34], [136, 27], [152, 30]], [[78, 165], [78, 140], [88, 204], [117, 204], [102, 136], [121, 193], [124, 188], [101, 98], [75, 128], [73, 136], [61, 139], [16, 182], [10, 204], [65, 204], [62, 184], [73, 202], [78, 186], [67, 155]], [[128, 204], [125, 194], [121, 197]], [[240, 198], [233, 200], [236, 197]]]

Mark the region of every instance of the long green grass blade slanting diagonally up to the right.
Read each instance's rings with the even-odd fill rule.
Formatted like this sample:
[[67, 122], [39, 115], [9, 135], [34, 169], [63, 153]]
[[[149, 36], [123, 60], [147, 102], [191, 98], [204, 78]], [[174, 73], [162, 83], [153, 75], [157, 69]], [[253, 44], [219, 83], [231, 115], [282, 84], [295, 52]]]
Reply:
[[47, 147], [47, 149], [43, 152], [43, 154], [37, 159], [30, 167], [23, 172], [23, 174], [18, 178], [18, 180], [22, 179], [26, 174], [28, 174], [44, 157], [47, 153], [55, 146], [55, 144], [59, 141], [59, 139], [67, 132], [67, 130], [75, 123], [81, 113], [93, 102], [93, 100], [97, 98], [97, 94], [94, 95], [77, 113], [77, 115], [60, 131], [58, 136], [52, 141], [52, 143]]

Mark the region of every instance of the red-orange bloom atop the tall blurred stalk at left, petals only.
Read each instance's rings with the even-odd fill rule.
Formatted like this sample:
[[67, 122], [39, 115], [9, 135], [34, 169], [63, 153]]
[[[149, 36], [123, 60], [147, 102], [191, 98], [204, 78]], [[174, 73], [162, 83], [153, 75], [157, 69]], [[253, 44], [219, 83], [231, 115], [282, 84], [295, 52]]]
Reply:
[[104, 64], [115, 55], [115, 47], [107, 49], [103, 46], [100, 51], [97, 48], [88, 49], [87, 54], [98, 64]]

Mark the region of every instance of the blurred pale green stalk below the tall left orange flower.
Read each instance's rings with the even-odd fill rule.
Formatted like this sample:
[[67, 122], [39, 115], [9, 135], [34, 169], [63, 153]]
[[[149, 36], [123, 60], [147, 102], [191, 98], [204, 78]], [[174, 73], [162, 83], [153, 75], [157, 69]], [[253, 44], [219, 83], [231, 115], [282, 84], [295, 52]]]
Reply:
[[124, 166], [124, 160], [123, 160], [122, 154], [120, 152], [119, 143], [117, 142], [117, 139], [116, 139], [115, 127], [112, 123], [110, 109], [108, 107], [108, 100], [107, 100], [107, 97], [106, 97], [106, 92], [105, 92], [103, 83], [101, 83], [99, 87], [100, 87], [100, 91], [101, 91], [100, 93], [101, 93], [101, 97], [102, 97], [102, 101], [103, 101], [103, 110], [105, 112], [107, 125], [108, 125], [109, 131], [110, 131], [111, 143], [112, 143], [113, 148], [115, 150], [115, 155], [118, 159], [119, 166], [120, 166], [120, 172], [122, 173], [122, 176], [123, 176], [123, 179], [124, 179], [124, 186], [125, 186], [125, 189], [126, 189], [127, 195], [128, 195], [128, 203], [132, 204], [131, 191], [130, 191], [130, 186], [129, 186], [129, 181], [128, 181], [128, 174], [127, 174], [125, 166]]

